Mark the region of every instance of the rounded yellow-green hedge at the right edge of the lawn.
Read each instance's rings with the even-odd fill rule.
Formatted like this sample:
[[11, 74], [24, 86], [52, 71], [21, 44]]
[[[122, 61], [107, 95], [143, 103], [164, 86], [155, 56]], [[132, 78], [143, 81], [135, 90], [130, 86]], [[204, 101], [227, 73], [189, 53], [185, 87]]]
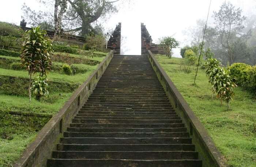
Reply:
[[256, 94], [256, 66], [245, 63], [234, 63], [230, 67], [231, 75], [236, 77], [236, 83]]

